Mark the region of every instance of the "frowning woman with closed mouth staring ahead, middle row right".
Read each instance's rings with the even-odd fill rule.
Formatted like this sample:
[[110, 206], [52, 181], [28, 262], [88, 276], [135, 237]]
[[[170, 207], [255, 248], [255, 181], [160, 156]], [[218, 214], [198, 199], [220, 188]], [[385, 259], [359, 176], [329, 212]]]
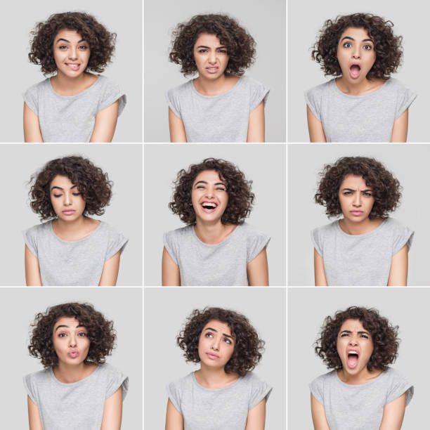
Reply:
[[367, 157], [339, 158], [320, 176], [315, 202], [343, 218], [312, 231], [315, 285], [406, 285], [414, 232], [388, 217], [398, 180]]

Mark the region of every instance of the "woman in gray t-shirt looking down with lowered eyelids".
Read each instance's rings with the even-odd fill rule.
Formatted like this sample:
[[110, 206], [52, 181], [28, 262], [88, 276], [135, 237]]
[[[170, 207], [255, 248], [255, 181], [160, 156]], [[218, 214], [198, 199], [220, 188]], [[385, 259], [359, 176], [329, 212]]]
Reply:
[[23, 232], [27, 285], [115, 285], [128, 239], [103, 221], [112, 182], [100, 167], [72, 156], [32, 176], [30, 206], [42, 221]]

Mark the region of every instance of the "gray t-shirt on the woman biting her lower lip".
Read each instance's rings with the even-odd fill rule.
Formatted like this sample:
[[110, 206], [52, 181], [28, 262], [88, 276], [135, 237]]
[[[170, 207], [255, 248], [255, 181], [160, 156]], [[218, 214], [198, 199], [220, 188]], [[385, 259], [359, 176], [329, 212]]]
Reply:
[[119, 100], [119, 116], [126, 105], [125, 94], [104, 76], [76, 96], [60, 96], [46, 78], [30, 86], [23, 97], [39, 117], [44, 142], [89, 142], [97, 113]]

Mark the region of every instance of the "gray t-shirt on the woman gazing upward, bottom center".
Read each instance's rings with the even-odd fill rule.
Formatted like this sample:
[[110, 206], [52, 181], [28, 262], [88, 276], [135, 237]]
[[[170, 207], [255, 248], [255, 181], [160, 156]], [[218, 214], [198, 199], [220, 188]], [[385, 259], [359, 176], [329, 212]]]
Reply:
[[197, 383], [194, 372], [167, 386], [171, 403], [183, 416], [184, 430], [245, 430], [248, 411], [268, 397], [272, 387], [252, 372], [222, 389]]

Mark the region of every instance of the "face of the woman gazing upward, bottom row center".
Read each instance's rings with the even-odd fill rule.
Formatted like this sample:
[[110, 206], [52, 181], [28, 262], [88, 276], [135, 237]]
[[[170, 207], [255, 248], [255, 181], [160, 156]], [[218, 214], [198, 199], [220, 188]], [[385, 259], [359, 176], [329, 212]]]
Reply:
[[203, 327], [199, 339], [199, 357], [208, 367], [224, 367], [235, 351], [235, 337], [230, 327], [218, 320], [210, 320]]

